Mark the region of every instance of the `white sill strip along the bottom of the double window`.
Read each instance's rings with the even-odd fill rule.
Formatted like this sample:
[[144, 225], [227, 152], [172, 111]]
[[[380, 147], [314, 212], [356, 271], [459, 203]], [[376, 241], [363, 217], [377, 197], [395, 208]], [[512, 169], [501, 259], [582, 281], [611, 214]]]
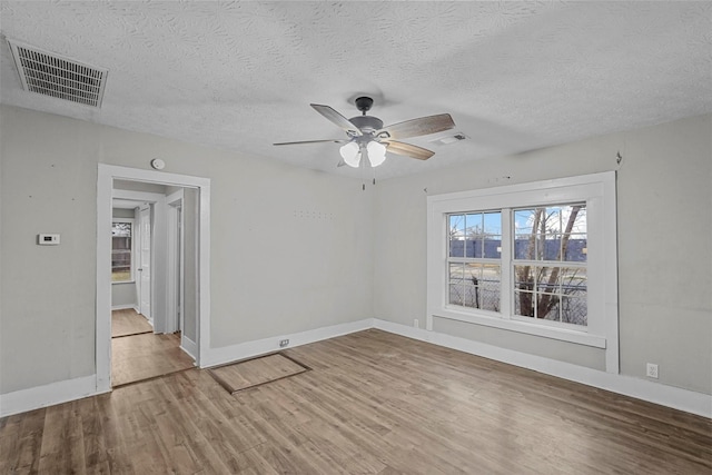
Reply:
[[500, 328], [508, 331], [517, 331], [527, 335], [540, 336], [544, 338], [558, 339], [562, 342], [575, 343], [577, 345], [593, 346], [596, 348], [605, 348], [605, 337], [591, 335], [586, 331], [578, 331], [568, 328], [556, 328], [530, 324], [521, 320], [510, 320], [501, 317], [474, 314], [467, 311], [458, 311], [452, 308], [439, 308], [429, 311], [433, 317], [448, 318], [451, 320], [466, 321], [469, 324], [483, 325], [493, 328]]

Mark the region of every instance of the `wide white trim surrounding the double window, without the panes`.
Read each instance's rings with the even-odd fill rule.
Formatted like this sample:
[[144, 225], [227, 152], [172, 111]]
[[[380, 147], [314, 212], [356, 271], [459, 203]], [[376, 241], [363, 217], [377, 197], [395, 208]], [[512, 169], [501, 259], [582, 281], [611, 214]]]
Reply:
[[[572, 329], [513, 318], [511, 298], [502, 299], [501, 315], [447, 305], [446, 215], [481, 209], [504, 209], [563, 202], [586, 202], [589, 222], [589, 325]], [[511, 219], [503, 214], [503, 236]], [[503, 237], [504, 239], [504, 237]], [[606, 372], [619, 373], [617, 244], [615, 172], [557, 178], [427, 198], [427, 315], [605, 348]], [[506, 251], [505, 251], [506, 250]], [[511, 281], [511, 255], [503, 246], [502, 279]], [[506, 280], [505, 280], [506, 279]]]

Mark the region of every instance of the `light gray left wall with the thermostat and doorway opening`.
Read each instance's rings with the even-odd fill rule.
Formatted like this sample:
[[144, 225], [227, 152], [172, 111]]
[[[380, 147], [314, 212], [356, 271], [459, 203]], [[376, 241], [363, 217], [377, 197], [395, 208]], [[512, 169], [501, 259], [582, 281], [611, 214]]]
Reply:
[[98, 162], [212, 180], [214, 347], [373, 317], [360, 181], [8, 106], [0, 121], [0, 394], [95, 374]]

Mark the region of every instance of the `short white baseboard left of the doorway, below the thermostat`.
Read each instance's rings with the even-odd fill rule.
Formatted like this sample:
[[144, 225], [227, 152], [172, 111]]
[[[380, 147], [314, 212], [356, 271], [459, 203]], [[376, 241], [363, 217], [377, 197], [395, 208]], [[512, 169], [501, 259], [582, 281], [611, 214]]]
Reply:
[[81, 399], [97, 394], [99, 393], [97, 392], [96, 375], [0, 394], [0, 417]]

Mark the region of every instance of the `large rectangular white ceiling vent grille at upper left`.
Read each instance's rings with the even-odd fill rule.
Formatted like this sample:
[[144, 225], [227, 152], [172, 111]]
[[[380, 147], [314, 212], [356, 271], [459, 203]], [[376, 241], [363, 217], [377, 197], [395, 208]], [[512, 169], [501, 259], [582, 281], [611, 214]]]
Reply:
[[101, 107], [107, 69], [8, 39], [24, 90]]

